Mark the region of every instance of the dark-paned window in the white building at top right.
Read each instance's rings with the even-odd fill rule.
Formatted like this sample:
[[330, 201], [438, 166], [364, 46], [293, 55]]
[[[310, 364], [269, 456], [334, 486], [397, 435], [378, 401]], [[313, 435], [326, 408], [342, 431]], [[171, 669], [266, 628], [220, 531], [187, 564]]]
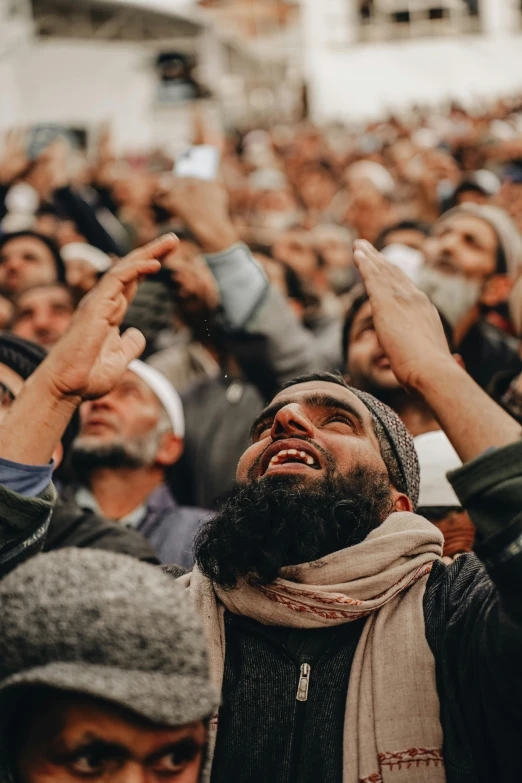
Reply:
[[480, 29], [480, 0], [358, 0], [366, 41], [452, 35]]

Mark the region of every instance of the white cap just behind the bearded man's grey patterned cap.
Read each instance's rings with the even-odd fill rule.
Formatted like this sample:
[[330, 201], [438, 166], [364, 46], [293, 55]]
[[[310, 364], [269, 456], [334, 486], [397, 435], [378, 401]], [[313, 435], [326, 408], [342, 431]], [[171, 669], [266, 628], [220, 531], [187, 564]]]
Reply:
[[446, 435], [442, 430], [425, 432], [414, 443], [421, 471], [418, 505], [461, 506], [446, 473], [460, 468], [462, 462]]

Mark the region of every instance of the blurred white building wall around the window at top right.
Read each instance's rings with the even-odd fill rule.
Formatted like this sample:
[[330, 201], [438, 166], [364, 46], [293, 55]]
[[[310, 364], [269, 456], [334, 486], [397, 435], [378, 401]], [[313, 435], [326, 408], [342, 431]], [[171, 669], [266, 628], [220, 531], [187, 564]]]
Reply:
[[514, 0], [483, 0], [480, 35], [379, 43], [357, 42], [349, 0], [303, 0], [302, 13], [305, 73], [317, 122], [522, 91], [521, 20]]

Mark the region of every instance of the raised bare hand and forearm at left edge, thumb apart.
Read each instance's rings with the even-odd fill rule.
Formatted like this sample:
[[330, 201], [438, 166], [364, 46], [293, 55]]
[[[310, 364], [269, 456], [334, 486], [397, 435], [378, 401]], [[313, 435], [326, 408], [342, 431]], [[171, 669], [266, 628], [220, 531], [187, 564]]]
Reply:
[[135, 250], [104, 275], [80, 304], [71, 326], [28, 379], [0, 424], [0, 457], [23, 465], [45, 465], [84, 399], [102, 397], [128, 363], [141, 354], [145, 338], [119, 326], [144, 275], [178, 240], [173, 234]]

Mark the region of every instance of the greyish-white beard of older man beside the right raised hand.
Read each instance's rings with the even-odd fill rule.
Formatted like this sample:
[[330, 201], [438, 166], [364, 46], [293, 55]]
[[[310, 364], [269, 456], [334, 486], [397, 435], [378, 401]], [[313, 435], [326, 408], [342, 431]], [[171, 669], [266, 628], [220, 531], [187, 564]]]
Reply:
[[466, 280], [460, 275], [445, 275], [429, 266], [420, 270], [417, 285], [452, 326], [456, 326], [477, 304], [482, 291], [482, 285], [474, 280]]

